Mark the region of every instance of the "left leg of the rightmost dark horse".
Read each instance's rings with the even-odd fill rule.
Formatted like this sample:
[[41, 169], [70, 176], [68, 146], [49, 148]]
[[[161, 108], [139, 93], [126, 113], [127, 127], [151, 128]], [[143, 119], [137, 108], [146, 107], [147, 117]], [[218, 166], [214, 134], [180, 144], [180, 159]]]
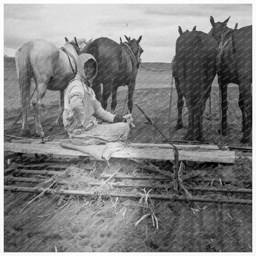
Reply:
[[228, 131], [228, 83], [218, 79], [220, 93], [222, 95], [222, 135]]

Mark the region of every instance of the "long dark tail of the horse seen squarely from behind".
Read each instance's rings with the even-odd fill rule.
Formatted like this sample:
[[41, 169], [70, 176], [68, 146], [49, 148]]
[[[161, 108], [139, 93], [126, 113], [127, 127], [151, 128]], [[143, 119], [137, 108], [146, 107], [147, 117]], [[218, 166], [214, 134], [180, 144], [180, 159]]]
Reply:
[[204, 77], [201, 63], [202, 41], [199, 36], [193, 36], [191, 46], [187, 49], [186, 56], [186, 86], [188, 87], [188, 106], [190, 106], [191, 116], [191, 138], [201, 140], [201, 117], [202, 117], [202, 100], [204, 94]]

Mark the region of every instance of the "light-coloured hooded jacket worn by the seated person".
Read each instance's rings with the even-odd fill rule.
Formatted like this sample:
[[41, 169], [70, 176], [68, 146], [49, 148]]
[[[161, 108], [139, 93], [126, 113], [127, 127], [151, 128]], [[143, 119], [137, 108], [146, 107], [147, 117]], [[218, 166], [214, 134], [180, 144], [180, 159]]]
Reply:
[[79, 55], [78, 73], [65, 90], [63, 124], [70, 136], [97, 125], [96, 118], [113, 123], [114, 114], [102, 108], [100, 102], [95, 98], [94, 90], [90, 87], [97, 74], [97, 68], [90, 80], [85, 78], [84, 63], [90, 58], [97, 65], [92, 55]]

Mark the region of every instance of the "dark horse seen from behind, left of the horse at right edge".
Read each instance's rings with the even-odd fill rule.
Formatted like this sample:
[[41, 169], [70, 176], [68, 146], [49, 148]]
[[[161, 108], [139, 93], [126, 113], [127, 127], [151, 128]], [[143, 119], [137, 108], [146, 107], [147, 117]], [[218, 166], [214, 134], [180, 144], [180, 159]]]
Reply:
[[188, 107], [187, 140], [202, 140], [202, 114], [216, 74], [217, 42], [202, 31], [181, 33], [176, 42], [172, 74], [178, 93], [177, 129], [183, 127], [183, 96]]

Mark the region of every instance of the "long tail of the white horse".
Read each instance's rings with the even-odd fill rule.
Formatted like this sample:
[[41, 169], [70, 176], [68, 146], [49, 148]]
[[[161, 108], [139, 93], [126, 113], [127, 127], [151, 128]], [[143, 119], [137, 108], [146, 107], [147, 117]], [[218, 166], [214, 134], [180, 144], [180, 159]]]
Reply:
[[18, 83], [20, 84], [20, 96], [22, 110], [30, 108], [30, 87], [33, 70], [30, 63], [31, 42], [24, 44], [15, 52], [15, 62], [18, 73]]

